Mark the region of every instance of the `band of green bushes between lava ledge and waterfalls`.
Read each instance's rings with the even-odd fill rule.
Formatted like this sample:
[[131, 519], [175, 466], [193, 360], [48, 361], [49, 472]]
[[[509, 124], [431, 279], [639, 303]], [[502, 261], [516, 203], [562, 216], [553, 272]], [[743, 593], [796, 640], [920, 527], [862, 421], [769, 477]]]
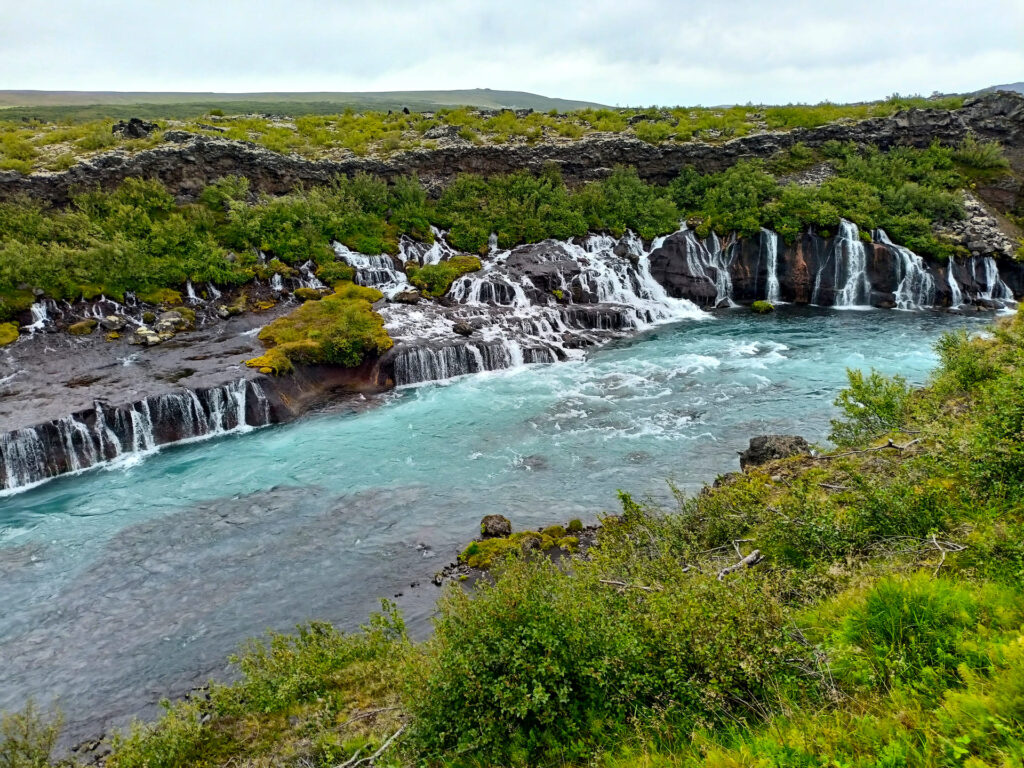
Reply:
[[[769, 227], [792, 242], [808, 227], [830, 234], [846, 218], [865, 234], [883, 227], [918, 253], [947, 257], [956, 247], [940, 240], [932, 224], [964, 215], [959, 190], [1001, 173], [1000, 153], [997, 144], [974, 139], [959, 147], [888, 153], [837, 142], [811, 153], [797, 144], [768, 163], [741, 161], [721, 173], [684, 168], [668, 186], [617, 168], [569, 188], [549, 168], [537, 175], [460, 176], [436, 201], [414, 178], [389, 185], [357, 175], [272, 198], [254, 196], [245, 179], [227, 177], [207, 186], [197, 203], [180, 205], [160, 182], [133, 178], [113, 191], [81, 191], [65, 209], [29, 200], [0, 203], [0, 321], [32, 303], [27, 289], [68, 300], [120, 300], [132, 292], [174, 304], [189, 280], [239, 287], [274, 272], [292, 274], [307, 262], [336, 285], [354, 273], [337, 260], [332, 241], [395, 254], [402, 234], [429, 241], [431, 225], [449, 229], [460, 250], [485, 253], [492, 233], [501, 248], [588, 231], [630, 229], [650, 239], [687, 219], [701, 236], [752, 236]], [[819, 159], [834, 174], [819, 186], [780, 183], [771, 172], [784, 175]], [[476, 260], [457, 258], [414, 268], [411, 278], [428, 295], [441, 296], [476, 268]]]

